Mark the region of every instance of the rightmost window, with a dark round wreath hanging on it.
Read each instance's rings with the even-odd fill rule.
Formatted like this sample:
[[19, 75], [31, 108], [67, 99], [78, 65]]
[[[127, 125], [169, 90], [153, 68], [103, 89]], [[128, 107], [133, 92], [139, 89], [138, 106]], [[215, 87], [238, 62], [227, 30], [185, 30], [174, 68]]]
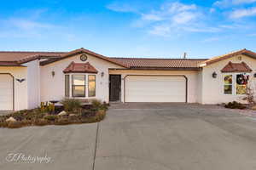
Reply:
[[236, 75], [236, 94], [247, 94], [247, 81], [248, 75], [238, 74]]

